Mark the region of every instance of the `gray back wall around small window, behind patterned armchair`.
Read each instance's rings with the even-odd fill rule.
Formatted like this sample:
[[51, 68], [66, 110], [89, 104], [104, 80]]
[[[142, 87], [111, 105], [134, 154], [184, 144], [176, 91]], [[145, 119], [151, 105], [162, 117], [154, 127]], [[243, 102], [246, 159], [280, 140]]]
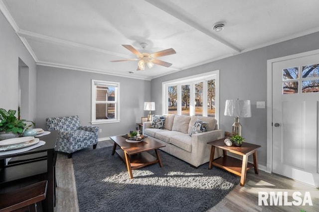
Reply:
[[37, 127], [46, 129], [45, 119], [78, 115], [82, 125], [91, 125], [91, 80], [120, 82], [119, 123], [95, 124], [99, 138], [125, 134], [147, 115], [144, 102], [151, 99], [151, 81], [37, 66]]

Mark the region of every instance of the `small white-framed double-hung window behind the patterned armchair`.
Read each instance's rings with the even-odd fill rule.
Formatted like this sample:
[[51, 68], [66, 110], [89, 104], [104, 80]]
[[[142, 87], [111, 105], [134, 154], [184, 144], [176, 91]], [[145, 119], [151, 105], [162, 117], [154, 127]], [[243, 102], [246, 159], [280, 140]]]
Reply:
[[119, 122], [120, 83], [92, 80], [92, 123]]

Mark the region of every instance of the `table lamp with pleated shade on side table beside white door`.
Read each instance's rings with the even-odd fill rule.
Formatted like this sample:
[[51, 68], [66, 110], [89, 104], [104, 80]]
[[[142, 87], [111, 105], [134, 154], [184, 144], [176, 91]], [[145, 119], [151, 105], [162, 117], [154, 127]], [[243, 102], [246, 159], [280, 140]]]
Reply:
[[241, 135], [239, 117], [251, 117], [250, 100], [226, 100], [224, 115], [235, 116], [232, 132]]

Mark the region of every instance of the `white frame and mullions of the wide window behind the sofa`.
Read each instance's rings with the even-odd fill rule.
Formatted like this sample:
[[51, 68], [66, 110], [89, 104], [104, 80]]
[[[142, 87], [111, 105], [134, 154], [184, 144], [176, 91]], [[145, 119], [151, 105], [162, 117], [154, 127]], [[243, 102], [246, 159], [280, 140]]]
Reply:
[[[203, 82], [203, 116], [207, 116], [207, 81], [215, 80], [215, 119], [219, 122], [219, 70], [185, 78], [162, 82], [162, 114], [168, 113], [168, 87], [177, 86], [177, 115], [181, 114], [180, 90], [182, 85], [190, 85], [190, 101], [194, 102], [194, 84]], [[195, 108], [190, 106], [189, 114], [195, 115]]]

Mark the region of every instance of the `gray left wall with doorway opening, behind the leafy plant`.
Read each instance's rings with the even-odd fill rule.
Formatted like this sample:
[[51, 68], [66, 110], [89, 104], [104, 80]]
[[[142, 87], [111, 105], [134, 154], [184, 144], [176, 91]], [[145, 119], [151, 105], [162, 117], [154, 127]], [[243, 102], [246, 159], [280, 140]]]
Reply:
[[[28, 111], [24, 117], [35, 120], [36, 117], [36, 64], [21, 40], [0, 12], [0, 108], [18, 108], [18, 70], [19, 58], [28, 67]], [[23, 109], [23, 108], [21, 108]], [[17, 115], [17, 113], [16, 113]]]

